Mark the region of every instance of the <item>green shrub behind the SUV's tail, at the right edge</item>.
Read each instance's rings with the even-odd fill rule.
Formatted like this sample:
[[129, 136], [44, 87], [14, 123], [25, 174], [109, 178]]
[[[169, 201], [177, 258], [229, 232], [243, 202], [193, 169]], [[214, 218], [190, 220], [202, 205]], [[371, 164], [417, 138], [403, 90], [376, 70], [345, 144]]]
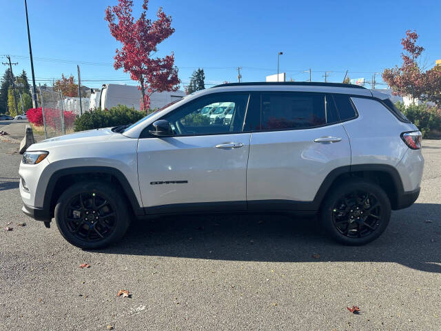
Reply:
[[441, 110], [422, 105], [404, 106], [404, 103], [396, 103], [397, 108], [420, 129], [423, 138], [434, 138], [441, 134]]

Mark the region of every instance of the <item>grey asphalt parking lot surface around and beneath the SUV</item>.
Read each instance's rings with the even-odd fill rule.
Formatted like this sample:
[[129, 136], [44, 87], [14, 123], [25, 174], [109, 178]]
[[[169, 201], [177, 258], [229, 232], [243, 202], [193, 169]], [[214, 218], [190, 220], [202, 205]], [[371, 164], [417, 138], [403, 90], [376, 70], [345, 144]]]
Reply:
[[418, 201], [363, 247], [310, 219], [205, 215], [88, 252], [22, 214], [20, 155], [0, 141], [0, 330], [441, 330], [441, 141], [423, 146]]

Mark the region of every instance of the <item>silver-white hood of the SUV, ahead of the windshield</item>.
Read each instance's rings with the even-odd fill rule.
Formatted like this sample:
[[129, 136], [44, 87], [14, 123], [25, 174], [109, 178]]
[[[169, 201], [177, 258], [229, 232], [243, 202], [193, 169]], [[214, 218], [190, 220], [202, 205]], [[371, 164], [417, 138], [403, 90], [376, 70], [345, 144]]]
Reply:
[[122, 136], [120, 133], [112, 132], [112, 128], [94, 129], [65, 134], [64, 136], [45, 139], [39, 143], [34, 143], [28, 147], [28, 150], [48, 150], [54, 146], [66, 146], [73, 144], [88, 143], [90, 139], [93, 141], [105, 141], [116, 135]]

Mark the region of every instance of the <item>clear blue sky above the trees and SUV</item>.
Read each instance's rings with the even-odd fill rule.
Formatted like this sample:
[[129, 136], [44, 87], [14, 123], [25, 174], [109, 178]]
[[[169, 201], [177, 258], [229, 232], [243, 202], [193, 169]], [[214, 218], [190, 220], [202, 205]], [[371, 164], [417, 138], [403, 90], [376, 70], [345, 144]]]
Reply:
[[[104, 10], [116, 2], [28, 0], [37, 85], [52, 84], [62, 72], [76, 77], [76, 64], [85, 86], [136, 84], [112, 66], [119, 44]], [[4, 62], [10, 54], [19, 62], [14, 72], [25, 69], [30, 78], [24, 0], [0, 4], [0, 58]], [[265, 81], [277, 71], [279, 51], [287, 79], [305, 81], [302, 71], [311, 68], [313, 81], [323, 81], [325, 70], [331, 71], [329, 81], [341, 82], [346, 70], [351, 78], [370, 81], [373, 72], [401, 63], [400, 39], [407, 29], [420, 34], [429, 66], [441, 59], [441, 1], [151, 0], [150, 17], [159, 6], [172, 15], [176, 32], [160, 44], [158, 56], [174, 51], [183, 83], [198, 67], [207, 84], [234, 82], [238, 66], [243, 81]], [[135, 17], [140, 9], [135, 0]]]

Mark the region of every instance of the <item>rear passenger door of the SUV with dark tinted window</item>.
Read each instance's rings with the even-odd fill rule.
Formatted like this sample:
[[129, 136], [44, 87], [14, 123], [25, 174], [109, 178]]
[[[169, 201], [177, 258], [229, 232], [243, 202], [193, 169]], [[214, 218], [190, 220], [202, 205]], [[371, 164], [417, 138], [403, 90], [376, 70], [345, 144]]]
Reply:
[[329, 172], [351, 164], [334, 99], [322, 93], [262, 92], [255, 103], [260, 126], [249, 148], [249, 209], [314, 210], [311, 201]]

